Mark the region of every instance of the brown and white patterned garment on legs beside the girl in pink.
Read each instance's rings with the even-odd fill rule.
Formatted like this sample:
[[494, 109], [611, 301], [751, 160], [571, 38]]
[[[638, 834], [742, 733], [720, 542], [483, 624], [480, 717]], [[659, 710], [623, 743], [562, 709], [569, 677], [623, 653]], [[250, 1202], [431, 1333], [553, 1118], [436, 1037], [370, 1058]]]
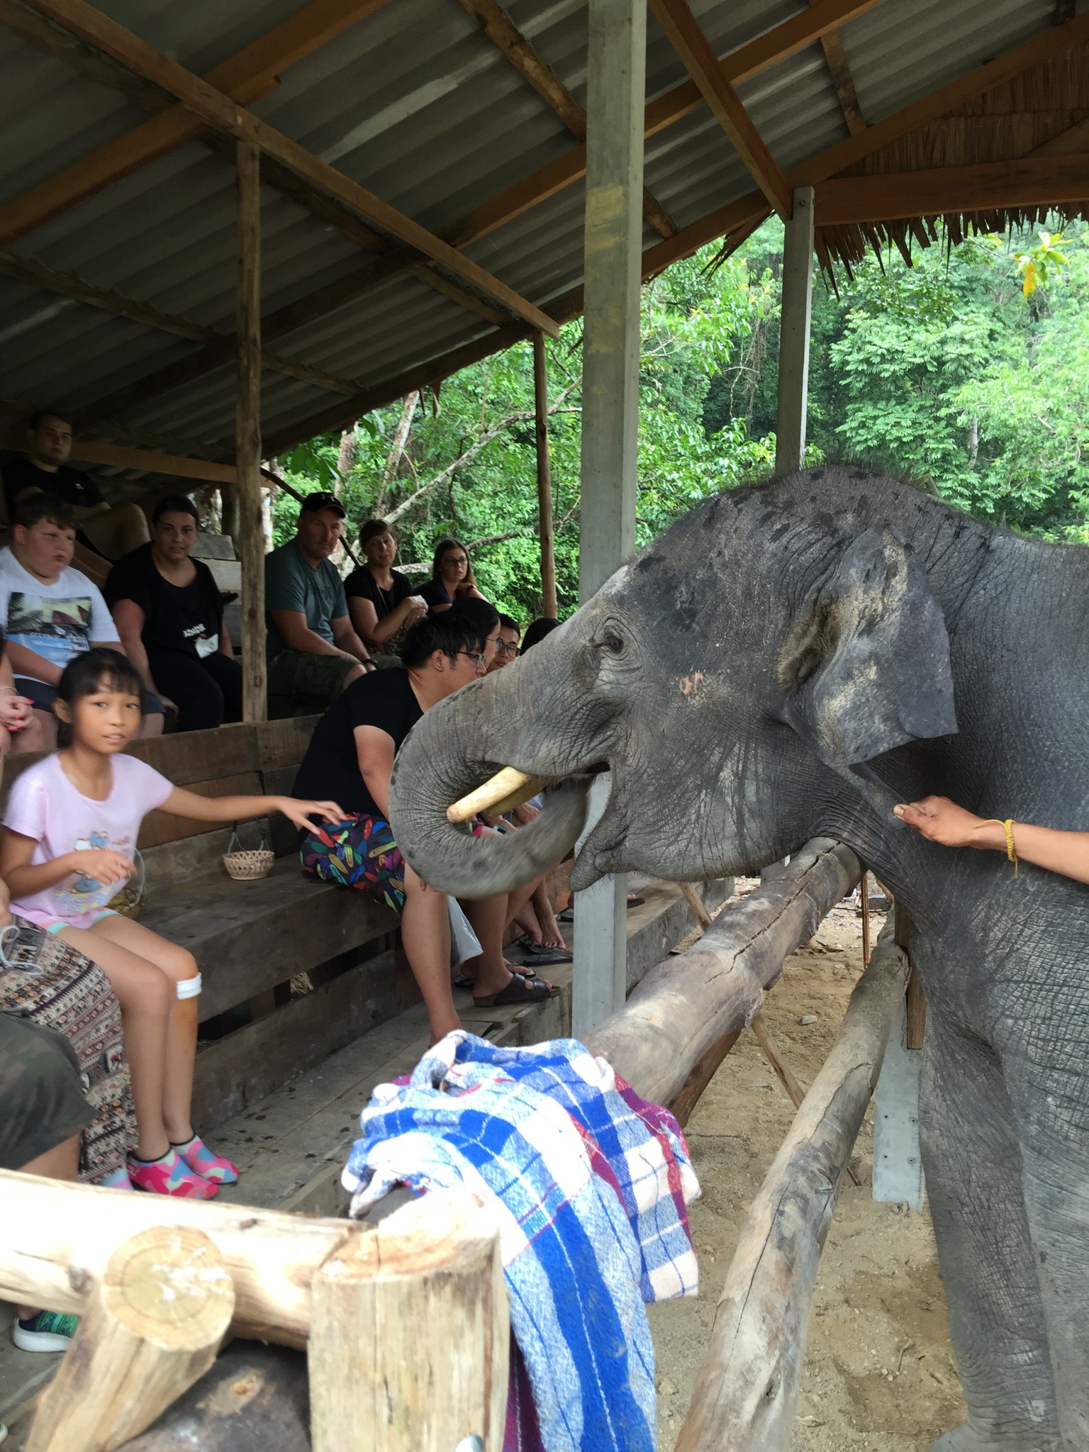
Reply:
[[136, 1144], [129, 1066], [121, 1037], [121, 1005], [106, 974], [62, 938], [25, 918], [4, 944], [16, 967], [0, 966], [0, 1008], [55, 1028], [76, 1050], [94, 1119], [80, 1141], [80, 1179], [94, 1182], [123, 1169]]

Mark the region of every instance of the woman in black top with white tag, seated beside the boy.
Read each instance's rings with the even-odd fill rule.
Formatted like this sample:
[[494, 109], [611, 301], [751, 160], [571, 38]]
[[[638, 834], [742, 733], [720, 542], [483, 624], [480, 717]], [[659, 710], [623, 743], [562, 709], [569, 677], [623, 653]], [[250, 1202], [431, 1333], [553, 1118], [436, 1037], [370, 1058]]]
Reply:
[[148, 690], [176, 707], [179, 730], [242, 719], [242, 668], [224, 629], [219, 587], [203, 560], [189, 558], [196, 534], [192, 499], [161, 499], [151, 543], [119, 559], [103, 587], [129, 661]]

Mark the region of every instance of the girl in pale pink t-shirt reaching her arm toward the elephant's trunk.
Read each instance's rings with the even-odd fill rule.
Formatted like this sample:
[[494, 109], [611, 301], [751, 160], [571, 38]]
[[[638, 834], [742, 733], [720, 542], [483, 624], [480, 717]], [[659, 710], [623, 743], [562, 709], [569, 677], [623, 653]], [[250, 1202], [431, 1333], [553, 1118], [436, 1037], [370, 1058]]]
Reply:
[[[184, 948], [113, 912], [132, 876], [142, 817], [155, 807], [195, 822], [235, 822], [270, 809], [299, 828], [311, 816], [343, 822], [335, 802], [293, 797], [200, 797], [174, 787], [135, 756], [144, 685], [115, 650], [71, 661], [57, 685], [60, 751], [12, 786], [0, 876], [12, 912], [60, 934], [103, 970], [121, 1000], [136, 1109], [129, 1182], [163, 1195], [212, 1199], [238, 1179], [189, 1121], [200, 974]], [[121, 1178], [123, 1183], [123, 1176]]]

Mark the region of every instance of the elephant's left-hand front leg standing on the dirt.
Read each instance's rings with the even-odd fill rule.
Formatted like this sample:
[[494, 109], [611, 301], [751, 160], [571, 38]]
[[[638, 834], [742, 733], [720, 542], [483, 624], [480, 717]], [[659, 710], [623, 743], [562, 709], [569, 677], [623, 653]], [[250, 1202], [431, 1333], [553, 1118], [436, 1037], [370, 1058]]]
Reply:
[[968, 1420], [935, 1452], [1059, 1445], [1044, 1308], [1022, 1196], [1016, 1121], [995, 1053], [926, 1024], [921, 1085], [926, 1192]]

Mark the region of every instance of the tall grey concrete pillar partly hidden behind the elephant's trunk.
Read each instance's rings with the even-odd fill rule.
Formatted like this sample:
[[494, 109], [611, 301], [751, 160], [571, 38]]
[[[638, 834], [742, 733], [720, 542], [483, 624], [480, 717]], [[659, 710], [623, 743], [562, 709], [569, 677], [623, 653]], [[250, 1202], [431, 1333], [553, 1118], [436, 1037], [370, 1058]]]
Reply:
[[[590, 0], [579, 600], [635, 549], [646, 0]], [[608, 791], [591, 793], [591, 820]], [[575, 899], [576, 1037], [624, 1002], [627, 887]]]

